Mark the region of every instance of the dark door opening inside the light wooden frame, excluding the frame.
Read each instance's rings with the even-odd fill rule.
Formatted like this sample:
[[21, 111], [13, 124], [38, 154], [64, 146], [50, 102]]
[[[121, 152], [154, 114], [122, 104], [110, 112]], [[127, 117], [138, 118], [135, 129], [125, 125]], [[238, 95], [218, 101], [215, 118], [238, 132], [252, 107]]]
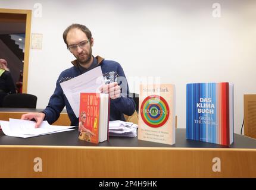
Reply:
[[26, 14], [0, 12], [0, 58], [8, 63], [17, 92], [22, 93]]

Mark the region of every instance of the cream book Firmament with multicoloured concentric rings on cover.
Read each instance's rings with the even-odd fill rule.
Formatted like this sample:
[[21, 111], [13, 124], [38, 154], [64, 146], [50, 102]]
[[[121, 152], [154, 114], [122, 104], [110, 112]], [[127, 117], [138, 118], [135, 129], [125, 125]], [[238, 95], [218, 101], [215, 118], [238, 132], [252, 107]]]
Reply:
[[140, 85], [138, 139], [175, 143], [175, 85]]

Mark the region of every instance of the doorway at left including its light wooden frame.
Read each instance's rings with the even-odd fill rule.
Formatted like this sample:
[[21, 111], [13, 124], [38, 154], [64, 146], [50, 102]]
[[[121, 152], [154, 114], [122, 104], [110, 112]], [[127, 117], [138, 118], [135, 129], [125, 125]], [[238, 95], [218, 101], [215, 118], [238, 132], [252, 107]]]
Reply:
[[31, 15], [31, 10], [0, 9], [0, 58], [7, 60], [20, 93], [27, 93]]

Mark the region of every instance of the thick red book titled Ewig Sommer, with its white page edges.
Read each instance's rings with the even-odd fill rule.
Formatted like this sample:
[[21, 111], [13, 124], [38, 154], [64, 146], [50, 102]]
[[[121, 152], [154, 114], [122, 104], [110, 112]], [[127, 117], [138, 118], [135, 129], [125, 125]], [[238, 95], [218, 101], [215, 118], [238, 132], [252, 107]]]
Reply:
[[80, 93], [79, 139], [90, 143], [108, 140], [108, 94]]

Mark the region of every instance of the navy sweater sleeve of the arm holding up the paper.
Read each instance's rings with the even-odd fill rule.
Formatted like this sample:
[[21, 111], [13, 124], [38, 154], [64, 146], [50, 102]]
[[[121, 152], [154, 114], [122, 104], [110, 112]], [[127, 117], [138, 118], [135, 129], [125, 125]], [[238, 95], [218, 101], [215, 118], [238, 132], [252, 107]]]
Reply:
[[123, 68], [118, 64], [117, 83], [121, 87], [121, 96], [117, 99], [111, 100], [111, 103], [125, 115], [133, 115], [135, 112], [135, 102], [132, 97], [129, 97], [129, 85], [126, 80]]

